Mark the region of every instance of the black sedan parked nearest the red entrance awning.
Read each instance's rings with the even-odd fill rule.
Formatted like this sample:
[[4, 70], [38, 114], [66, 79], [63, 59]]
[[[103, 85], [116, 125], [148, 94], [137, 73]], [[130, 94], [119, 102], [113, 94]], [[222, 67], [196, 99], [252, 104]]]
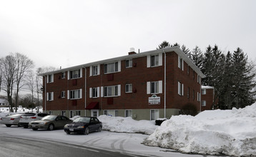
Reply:
[[102, 131], [102, 122], [96, 117], [81, 116], [64, 126], [64, 131], [67, 134], [83, 133], [88, 135], [92, 131]]

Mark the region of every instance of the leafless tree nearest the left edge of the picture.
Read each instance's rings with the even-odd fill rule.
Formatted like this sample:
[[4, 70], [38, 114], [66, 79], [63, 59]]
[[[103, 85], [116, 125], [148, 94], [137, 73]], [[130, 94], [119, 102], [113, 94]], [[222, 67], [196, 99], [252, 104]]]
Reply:
[[13, 112], [12, 91], [14, 88], [16, 74], [16, 59], [13, 54], [0, 59], [1, 77], [3, 90], [7, 93], [10, 111]]

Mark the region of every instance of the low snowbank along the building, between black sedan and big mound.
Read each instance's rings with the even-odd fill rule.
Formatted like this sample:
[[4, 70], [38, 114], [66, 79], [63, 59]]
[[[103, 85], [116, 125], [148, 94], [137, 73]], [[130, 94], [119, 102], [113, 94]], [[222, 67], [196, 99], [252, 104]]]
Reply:
[[118, 133], [144, 133], [150, 135], [158, 127], [154, 125], [154, 121], [136, 121], [131, 117], [112, 117], [99, 116], [102, 121], [102, 129]]

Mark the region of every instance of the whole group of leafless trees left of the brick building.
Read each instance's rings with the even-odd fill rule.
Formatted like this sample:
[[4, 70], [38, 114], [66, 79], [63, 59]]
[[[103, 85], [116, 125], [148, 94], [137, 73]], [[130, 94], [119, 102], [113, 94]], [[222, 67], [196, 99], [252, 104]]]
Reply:
[[[0, 91], [6, 92], [10, 111], [17, 111], [19, 105], [34, 108], [41, 106], [42, 78], [39, 74], [54, 68], [34, 69], [34, 62], [24, 54], [10, 53], [0, 59]], [[20, 97], [21, 89], [28, 89], [30, 96]], [[28, 104], [29, 103], [29, 104]]]

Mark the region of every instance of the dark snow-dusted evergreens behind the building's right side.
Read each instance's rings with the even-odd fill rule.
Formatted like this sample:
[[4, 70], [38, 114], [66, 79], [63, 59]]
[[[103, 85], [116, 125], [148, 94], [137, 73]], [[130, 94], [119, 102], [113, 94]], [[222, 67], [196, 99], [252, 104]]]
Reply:
[[189, 59], [205, 74], [202, 85], [215, 88], [212, 108], [243, 108], [255, 103], [255, 64], [248, 60], [239, 47], [224, 53], [217, 45], [202, 51], [198, 46], [189, 50], [186, 46], [163, 41], [157, 49], [179, 46]]

